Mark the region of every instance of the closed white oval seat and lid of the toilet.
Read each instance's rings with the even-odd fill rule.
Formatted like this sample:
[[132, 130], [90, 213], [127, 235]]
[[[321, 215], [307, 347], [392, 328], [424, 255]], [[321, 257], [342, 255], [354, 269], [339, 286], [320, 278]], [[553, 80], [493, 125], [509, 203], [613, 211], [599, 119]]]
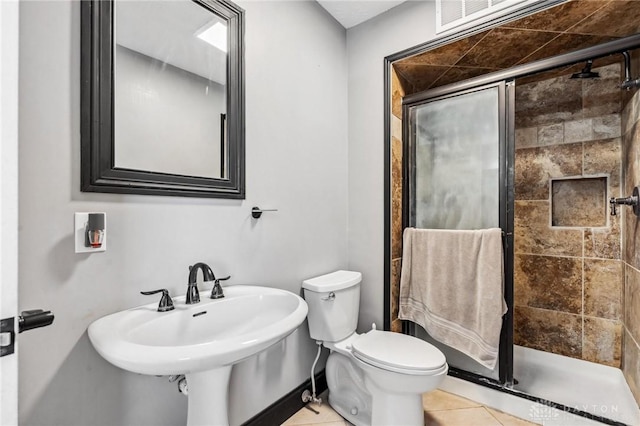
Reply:
[[429, 375], [439, 373], [447, 360], [435, 346], [415, 337], [372, 330], [353, 341], [352, 354], [374, 367], [396, 373]]

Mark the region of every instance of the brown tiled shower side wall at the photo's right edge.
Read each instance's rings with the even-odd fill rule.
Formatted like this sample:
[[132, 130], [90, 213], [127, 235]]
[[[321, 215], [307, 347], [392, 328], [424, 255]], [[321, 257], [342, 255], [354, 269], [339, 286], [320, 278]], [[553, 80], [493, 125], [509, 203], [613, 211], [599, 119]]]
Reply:
[[[634, 74], [636, 75], [636, 74]], [[640, 91], [622, 114], [624, 194], [640, 185]], [[622, 372], [640, 404], [640, 219], [624, 209], [624, 310]]]

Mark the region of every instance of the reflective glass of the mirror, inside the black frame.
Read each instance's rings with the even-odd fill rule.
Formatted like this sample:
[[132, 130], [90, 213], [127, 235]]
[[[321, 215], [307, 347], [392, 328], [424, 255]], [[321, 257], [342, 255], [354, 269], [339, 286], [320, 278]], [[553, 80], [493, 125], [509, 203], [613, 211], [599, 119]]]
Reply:
[[226, 179], [226, 20], [192, 1], [114, 17], [115, 167]]

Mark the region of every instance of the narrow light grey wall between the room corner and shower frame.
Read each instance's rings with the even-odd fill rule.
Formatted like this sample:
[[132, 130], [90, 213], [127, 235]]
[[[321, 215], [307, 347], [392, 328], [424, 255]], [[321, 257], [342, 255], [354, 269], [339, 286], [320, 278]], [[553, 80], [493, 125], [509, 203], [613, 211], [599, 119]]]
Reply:
[[382, 327], [384, 58], [435, 38], [435, 3], [408, 1], [347, 32], [349, 268], [363, 273], [358, 329]]

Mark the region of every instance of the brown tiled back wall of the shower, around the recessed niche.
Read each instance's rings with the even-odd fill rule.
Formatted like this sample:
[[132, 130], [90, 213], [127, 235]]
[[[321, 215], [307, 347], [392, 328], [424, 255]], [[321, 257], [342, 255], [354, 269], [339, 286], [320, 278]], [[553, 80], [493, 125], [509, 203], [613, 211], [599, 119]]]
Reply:
[[621, 67], [595, 71], [516, 85], [514, 340], [619, 367]]

